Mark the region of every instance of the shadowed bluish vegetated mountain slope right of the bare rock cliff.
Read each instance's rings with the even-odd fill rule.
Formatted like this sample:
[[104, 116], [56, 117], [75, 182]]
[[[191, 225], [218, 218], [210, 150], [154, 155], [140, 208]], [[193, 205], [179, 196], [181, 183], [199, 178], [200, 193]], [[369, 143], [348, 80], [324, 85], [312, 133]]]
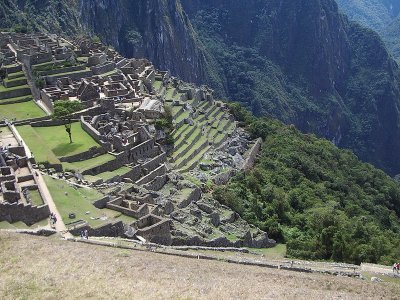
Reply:
[[182, 3], [229, 98], [398, 173], [399, 70], [377, 34], [329, 0]]

